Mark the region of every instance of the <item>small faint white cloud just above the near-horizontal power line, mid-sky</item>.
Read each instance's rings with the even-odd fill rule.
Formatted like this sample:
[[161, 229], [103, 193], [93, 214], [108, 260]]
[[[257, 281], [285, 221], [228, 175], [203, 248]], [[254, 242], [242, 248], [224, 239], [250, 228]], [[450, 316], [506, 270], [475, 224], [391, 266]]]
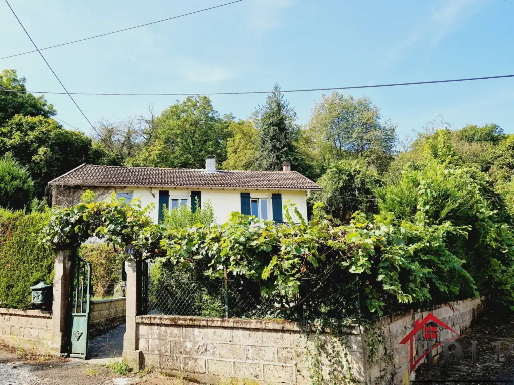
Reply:
[[177, 67], [178, 72], [193, 83], [221, 83], [237, 76], [236, 71], [231, 69], [200, 63], [191, 58], [182, 59]]

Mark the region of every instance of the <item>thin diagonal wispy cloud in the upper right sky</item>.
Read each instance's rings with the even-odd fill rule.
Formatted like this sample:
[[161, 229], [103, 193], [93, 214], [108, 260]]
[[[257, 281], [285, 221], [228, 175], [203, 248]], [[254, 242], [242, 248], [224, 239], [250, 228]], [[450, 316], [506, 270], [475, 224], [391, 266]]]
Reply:
[[409, 49], [424, 42], [430, 53], [450, 32], [462, 28], [473, 15], [479, 13], [489, 0], [445, 0], [432, 9], [427, 20], [416, 23], [407, 36], [389, 50], [389, 59], [398, 61]]

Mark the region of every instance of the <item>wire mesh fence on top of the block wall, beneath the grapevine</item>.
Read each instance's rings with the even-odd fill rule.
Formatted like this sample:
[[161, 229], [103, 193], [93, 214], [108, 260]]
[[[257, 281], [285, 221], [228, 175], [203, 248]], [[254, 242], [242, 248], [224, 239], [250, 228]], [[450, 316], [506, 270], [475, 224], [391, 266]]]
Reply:
[[307, 298], [303, 301], [299, 297], [296, 302], [284, 306], [265, 302], [261, 288], [244, 277], [212, 279], [203, 274], [181, 272], [166, 263], [148, 261], [143, 267], [141, 312], [150, 315], [289, 320], [359, 317], [358, 293], [348, 302], [348, 291], [351, 291], [349, 286], [329, 280], [322, 288], [316, 287], [312, 293], [306, 293]]

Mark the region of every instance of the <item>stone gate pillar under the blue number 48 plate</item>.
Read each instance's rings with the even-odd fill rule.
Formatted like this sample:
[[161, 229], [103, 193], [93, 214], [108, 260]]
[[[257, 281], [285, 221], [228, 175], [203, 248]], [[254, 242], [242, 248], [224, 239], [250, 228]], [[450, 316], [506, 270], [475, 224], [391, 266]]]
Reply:
[[126, 331], [123, 337], [123, 362], [134, 372], [142, 369], [143, 355], [138, 347], [136, 316], [139, 312], [141, 290], [141, 261], [125, 261], [126, 288]]

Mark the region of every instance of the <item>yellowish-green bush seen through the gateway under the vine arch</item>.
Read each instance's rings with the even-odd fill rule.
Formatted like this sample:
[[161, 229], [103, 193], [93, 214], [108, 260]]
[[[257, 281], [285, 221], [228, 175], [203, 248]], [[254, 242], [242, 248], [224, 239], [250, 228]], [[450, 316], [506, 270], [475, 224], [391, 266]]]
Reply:
[[91, 264], [93, 294], [105, 298], [114, 285], [121, 281], [123, 258], [104, 243], [84, 244], [79, 255]]

